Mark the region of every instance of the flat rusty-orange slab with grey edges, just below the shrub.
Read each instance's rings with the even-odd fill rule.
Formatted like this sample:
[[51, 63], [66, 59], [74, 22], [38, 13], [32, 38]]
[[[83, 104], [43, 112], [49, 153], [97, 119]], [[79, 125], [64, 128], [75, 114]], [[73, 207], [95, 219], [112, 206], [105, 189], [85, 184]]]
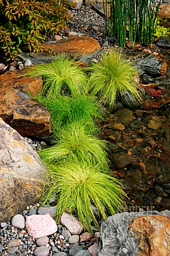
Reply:
[[[53, 49], [52, 51], [55, 54], [65, 52], [75, 58], [75, 60], [80, 60], [85, 63], [100, 50], [100, 45], [96, 39], [80, 35], [70, 36], [60, 42], [42, 45]], [[22, 53], [19, 54], [19, 57], [23, 61], [30, 59], [32, 64], [48, 63], [50, 60], [56, 58], [55, 55], [48, 53]]]

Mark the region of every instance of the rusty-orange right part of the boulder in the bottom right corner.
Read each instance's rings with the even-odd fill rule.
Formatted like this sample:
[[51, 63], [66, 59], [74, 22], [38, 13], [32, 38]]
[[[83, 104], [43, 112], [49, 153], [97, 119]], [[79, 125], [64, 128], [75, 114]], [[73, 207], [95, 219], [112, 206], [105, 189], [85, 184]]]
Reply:
[[146, 215], [134, 219], [130, 232], [139, 238], [139, 256], [168, 256], [170, 252], [170, 218]]

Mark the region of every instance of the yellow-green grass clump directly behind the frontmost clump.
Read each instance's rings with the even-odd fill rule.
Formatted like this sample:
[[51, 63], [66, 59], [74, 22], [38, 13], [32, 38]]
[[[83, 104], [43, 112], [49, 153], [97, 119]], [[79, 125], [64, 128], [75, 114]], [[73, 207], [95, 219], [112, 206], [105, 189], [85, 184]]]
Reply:
[[47, 164], [58, 161], [78, 161], [98, 164], [103, 172], [108, 171], [106, 143], [92, 133], [87, 133], [81, 123], [73, 123], [63, 130], [61, 139], [54, 146], [38, 152]]

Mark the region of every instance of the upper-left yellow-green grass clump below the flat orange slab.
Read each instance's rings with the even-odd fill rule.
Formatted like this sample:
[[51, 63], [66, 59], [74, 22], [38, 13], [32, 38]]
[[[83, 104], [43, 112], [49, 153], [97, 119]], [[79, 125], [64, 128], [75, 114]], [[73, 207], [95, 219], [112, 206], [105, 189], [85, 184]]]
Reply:
[[61, 95], [84, 93], [87, 78], [79, 65], [62, 53], [52, 62], [28, 67], [24, 75], [43, 76], [44, 85], [41, 94], [55, 99]]

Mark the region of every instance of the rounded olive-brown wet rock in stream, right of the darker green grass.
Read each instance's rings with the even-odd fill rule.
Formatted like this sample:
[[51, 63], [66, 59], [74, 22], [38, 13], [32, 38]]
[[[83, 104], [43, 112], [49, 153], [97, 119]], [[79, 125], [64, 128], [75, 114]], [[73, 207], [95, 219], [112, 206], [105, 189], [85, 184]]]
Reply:
[[116, 115], [118, 120], [125, 125], [130, 124], [135, 119], [133, 112], [125, 108], [117, 110], [114, 114]]

